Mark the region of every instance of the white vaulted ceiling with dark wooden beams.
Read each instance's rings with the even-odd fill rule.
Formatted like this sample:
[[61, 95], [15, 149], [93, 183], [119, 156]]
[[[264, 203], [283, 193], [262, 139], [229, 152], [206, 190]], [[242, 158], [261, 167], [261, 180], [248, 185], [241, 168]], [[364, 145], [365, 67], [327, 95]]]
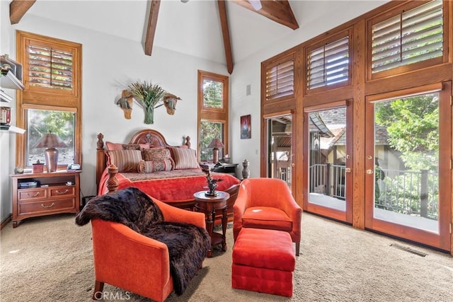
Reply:
[[299, 28], [292, 11], [295, 2], [13, 0], [10, 19], [15, 24], [45, 18], [90, 28], [142, 42], [144, 55], [162, 47], [226, 64], [231, 74], [234, 62]]

